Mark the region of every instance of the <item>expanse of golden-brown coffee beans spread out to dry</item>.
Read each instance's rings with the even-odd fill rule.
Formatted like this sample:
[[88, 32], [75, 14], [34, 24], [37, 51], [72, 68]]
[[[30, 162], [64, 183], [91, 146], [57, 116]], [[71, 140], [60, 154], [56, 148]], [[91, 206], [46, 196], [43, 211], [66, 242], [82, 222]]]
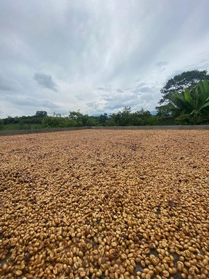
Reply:
[[208, 139], [0, 137], [0, 278], [209, 278]]

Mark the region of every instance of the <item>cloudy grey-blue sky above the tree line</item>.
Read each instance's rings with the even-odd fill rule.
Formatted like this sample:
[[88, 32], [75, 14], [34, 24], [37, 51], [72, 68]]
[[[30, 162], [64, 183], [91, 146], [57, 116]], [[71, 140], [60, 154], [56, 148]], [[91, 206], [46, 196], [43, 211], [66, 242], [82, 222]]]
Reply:
[[155, 110], [209, 72], [208, 0], [0, 0], [0, 118]]

